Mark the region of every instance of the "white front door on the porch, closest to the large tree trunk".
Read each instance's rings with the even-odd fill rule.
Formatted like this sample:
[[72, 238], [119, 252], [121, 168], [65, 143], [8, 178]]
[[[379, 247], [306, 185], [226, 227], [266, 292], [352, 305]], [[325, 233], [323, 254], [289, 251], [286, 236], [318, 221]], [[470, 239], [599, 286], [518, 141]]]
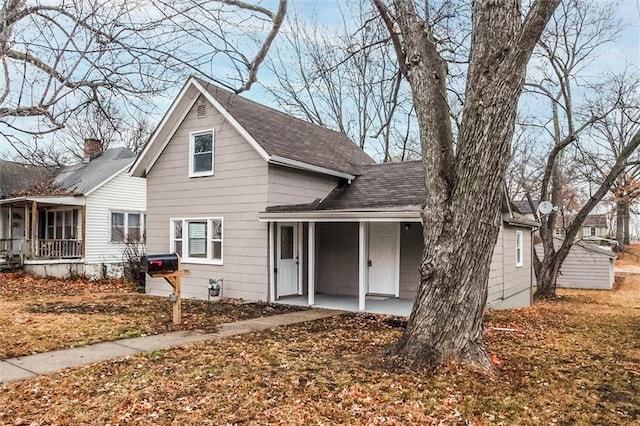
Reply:
[[369, 294], [398, 296], [400, 224], [369, 224]]

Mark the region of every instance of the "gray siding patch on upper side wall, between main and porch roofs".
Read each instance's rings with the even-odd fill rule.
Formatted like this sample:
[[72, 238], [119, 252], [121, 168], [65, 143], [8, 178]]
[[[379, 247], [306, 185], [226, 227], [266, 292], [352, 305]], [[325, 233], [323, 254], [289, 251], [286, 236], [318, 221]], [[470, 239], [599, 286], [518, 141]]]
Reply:
[[268, 204], [305, 204], [324, 198], [337, 178], [280, 166], [269, 166]]

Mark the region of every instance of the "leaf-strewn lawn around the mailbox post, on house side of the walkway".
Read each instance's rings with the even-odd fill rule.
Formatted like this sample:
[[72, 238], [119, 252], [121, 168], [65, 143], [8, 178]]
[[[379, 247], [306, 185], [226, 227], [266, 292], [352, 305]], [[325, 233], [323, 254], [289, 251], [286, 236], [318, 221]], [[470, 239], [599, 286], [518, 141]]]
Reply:
[[[167, 285], [167, 293], [170, 287]], [[237, 300], [183, 300], [172, 323], [166, 297], [135, 293], [120, 280], [87, 282], [0, 274], [0, 359], [175, 330], [215, 331], [218, 324], [295, 308]]]

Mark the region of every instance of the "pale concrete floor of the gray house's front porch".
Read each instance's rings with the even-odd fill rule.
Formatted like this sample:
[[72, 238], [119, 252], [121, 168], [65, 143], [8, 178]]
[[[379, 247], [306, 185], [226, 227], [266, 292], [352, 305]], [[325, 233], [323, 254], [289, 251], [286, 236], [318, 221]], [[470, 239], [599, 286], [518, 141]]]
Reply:
[[[288, 296], [276, 300], [276, 303], [296, 306], [309, 306], [307, 296]], [[358, 312], [357, 296], [339, 296], [316, 294], [314, 308], [339, 309]], [[413, 300], [395, 297], [367, 296], [364, 312], [408, 317], [411, 314]]]

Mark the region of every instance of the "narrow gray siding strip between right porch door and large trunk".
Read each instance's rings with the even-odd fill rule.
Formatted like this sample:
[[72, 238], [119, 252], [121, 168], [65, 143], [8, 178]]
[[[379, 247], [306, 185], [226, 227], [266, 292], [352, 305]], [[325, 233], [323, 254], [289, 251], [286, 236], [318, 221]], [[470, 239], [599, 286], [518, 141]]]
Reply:
[[420, 285], [420, 261], [424, 243], [422, 224], [411, 223], [400, 227], [400, 298], [413, 299]]

